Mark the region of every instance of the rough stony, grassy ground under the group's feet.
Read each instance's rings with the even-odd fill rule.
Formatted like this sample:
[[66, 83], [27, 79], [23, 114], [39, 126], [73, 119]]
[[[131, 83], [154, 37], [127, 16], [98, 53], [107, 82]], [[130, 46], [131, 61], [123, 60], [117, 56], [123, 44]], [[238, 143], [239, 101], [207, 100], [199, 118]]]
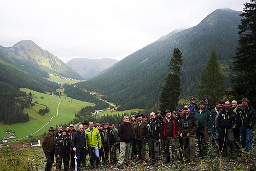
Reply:
[[[236, 159], [231, 158], [229, 155], [220, 160], [220, 157], [216, 155], [214, 149], [209, 149], [206, 157], [196, 159], [195, 167], [191, 166], [189, 163], [183, 163], [176, 158], [173, 163], [162, 164], [164, 156], [161, 156], [161, 162], [155, 163], [154, 165], [137, 164], [137, 160], [134, 159], [128, 166], [125, 166], [124, 169], [118, 169], [116, 165], [109, 167], [108, 165], [100, 164], [97, 169], [95, 168], [93, 170], [255, 170], [255, 148], [253, 148], [250, 159], [247, 157], [245, 160], [245, 155], [241, 156], [240, 154], [239, 152], [236, 153]], [[46, 164], [44, 153], [40, 147], [3, 149], [0, 151], [0, 156], [0, 160], [2, 161], [0, 170], [44, 170]], [[20, 161], [18, 161], [18, 159]], [[90, 164], [89, 156], [87, 163]], [[53, 167], [52, 170], [55, 170], [55, 167]], [[83, 167], [83, 170], [89, 170], [89, 167]]]

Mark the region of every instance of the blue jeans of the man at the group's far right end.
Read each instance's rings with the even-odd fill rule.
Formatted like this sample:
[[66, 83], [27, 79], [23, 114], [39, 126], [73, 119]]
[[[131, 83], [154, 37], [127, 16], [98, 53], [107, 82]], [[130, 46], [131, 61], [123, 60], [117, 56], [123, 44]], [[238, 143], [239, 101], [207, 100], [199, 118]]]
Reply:
[[252, 145], [252, 129], [245, 128], [243, 126], [239, 127], [239, 131], [241, 134], [242, 148], [245, 147], [245, 151], [249, 152], [251, 150]]

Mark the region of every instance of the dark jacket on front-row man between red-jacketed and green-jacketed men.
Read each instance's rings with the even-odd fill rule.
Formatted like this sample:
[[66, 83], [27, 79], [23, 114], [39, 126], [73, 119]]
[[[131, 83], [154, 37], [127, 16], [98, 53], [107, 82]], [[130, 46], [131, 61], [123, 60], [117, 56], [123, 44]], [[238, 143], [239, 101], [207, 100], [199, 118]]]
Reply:
[[[184, 122], [188, 123], [187, 127], [184, 127]], [[188, 115], [186, 118], [186, 114], [184, 113], [181, 116], [181, 121], [180, 121], [180, 133], [182, 133], [184, 136], [187, 133], [190, 133], [191, 135], [194, 135], [198, 129], [198, 121], [197, 117], [194, 113], [191, 113]]]

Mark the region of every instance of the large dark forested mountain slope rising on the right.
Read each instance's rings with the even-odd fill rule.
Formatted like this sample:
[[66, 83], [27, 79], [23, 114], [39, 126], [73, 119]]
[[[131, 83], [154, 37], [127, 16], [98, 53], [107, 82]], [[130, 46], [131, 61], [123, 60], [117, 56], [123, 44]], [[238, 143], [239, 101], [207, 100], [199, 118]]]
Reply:
[[173, 49], [179, 48], [183, 54], [181, 97], [196, 96], [197, 82], [212, 49], [216, 50], [223, 71], [229, 72], [228, 66], [238, 46], [240, 13], [231, 9], [215, 10], [197, 26], [161, 37], [77, 86], [100, 92], [124, 109], [151, 108], [157, 103], [169, 72]]

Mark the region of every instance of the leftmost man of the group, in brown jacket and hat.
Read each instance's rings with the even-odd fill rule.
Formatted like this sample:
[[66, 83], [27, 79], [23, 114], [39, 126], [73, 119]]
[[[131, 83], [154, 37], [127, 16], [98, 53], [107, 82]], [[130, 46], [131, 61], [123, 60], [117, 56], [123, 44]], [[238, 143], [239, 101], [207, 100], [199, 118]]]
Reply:
[[52, 169], [56, 144], [56, 138], [54, 135], [55, 130], [53, 129], [53, 127], [50, 127], [48, 131], [49, 133], [42, 140], [42, 150], [44, 151], [47, 160], [45, 168], [46, 171], [50, 171]]

